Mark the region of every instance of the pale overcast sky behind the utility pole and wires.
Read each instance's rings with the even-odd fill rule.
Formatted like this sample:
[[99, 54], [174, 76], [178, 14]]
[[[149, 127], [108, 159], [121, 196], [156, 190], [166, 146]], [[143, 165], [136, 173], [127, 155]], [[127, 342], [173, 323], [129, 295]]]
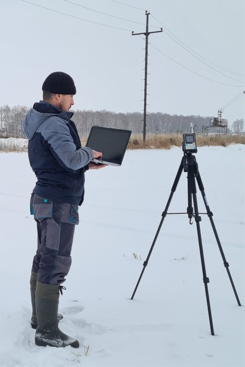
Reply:
[[[139, 36], [131, 36], [131, 31], [145, 32], [144, 10], [112, 0], [73, 0], [93, 10], [143, 23], [140, 25], [64, 0], [30, 1], [126, 30], [83, 21], [21, 0], [0, 1], [1, 106], [32, 106], [42, 99], [44, 79], [54, 71], [63, 71], [73, 77], [77, 87], [74, 109], [115, 112], [143, 109], [145, 42]], [[245, 74], [244, 0], [120, 2], [149, 10], [149, 25], [161, 27], [159, 22], [162, 23], [192, 50], [228, 71], [201, 58], [204, 62], [235, 79], [211, 69], [166, 33], [150, 34], [151, 44], [168, 57], [200, 75], [230, 86], [184, 69], [149, 45], [149, 112], [218, 116], [218, 109], [244, 90], [244, 76], [241, 76]], [[149, 30], [158, 29], [149, 27]], [[222, 117], [230, 124], [237, 118], [244, 118], [244, 101], [245, 95], [242, 95], [224, 110]]]

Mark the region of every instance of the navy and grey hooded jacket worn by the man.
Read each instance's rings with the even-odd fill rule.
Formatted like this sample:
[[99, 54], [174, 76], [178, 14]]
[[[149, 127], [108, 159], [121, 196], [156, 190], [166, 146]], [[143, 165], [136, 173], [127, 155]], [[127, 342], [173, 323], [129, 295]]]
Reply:
[[81, 148], [71, 117], [51, 103], [35, 103], [22, 122], [28, 143], [28, 156], [37, 182], [33, 192], [40, 197], [81, 205], [84, 172], [93, 159], [90, 148]]

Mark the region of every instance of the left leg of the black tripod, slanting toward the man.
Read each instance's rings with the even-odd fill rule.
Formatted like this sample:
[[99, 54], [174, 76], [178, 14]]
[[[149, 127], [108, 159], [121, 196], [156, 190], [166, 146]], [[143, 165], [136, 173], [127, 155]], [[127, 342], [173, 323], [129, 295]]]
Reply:
[[152, 253], [153, 247], [154, 247], [154, 245], [155, 245], [155, 243], [156, 243], [157, 237], [158, 237], [159, 232], [160, 232], [160, 229], [161, 229], [161, 227], [162, 227], [162, 224], [163, 224], [164, 218], [165, 218], [165, 217], [166, 217], [166, 215], [167, 215], [168, 207], [170, 206], [170, 203], [171, 203], [172, 197], [173, 197], [174, 192], [175, 192], [175, 190], [176, 190], [176, 188], [177, 188], [177, 185], [178, 185], [178, 182], [179, 182], [179, 178], [181, 177], [181, 173], [182, 173], [182, 171], [183, 171], [183, 167], [184, 167], [184, 157], [182, 157], [181, 164], [180, 164], [180, 166], [179, 166], [179, 169], [178, 169], [177, 175], [176, 175], [176, 177], [175, 177], [174, 184], [173, 184], [173, 186], [172, 186], [171, 193], [170, 193], [170, 196], [169, 196], [169, 198], [168, 198], [168, 202], [167, 202], [166, 208], [165, 208], [164, 212], [162, 213], [162, 219], [161, 219], [161, 222], [160, 222], [160, 224], [159, 224], [159, 227], [158, 227], [158, 229], [157, 229], [156, 235], [155, 235], [154, 240], [153, 240], [153, 242], [152, 242], [152, 245], [151, 245], [151, 248], [150, 248], [149, 254], [148, 254], [148, 256], [147, 256], [146, 260], [144, 261], [142, 272], [141, 272], [141, 274], [140, 274], [139, 280], [138, 280], [138, 282], [137, 282], [137, 284], [136, 284], [136, 287], [135, 287], [135, 289], [134, 289], [134, 292], [133, 292], [133, 295], [132, 295], [131, 299], [134, 299], [134, 295], [136, 294], [136, 291], [137, 291], [138, 285], [140, 284], [140, 281], [141, 281], [142, 275], [144, 274], [145, 267], [146, 267], [146, 266], [147, 266], [147, 264], [148, 264], [148, 261], [149, 261], [149, 258], [150, 258], [150, 256], [151, 256], [151, 253]]

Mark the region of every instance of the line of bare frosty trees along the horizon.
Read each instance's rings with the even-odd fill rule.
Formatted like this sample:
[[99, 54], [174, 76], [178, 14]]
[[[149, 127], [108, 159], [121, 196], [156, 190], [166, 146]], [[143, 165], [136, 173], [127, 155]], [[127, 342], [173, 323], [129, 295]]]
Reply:
[[[24, 138], [21, 124], [30, 108], [27, 106], [0, 107], [0, 137]], [[107, 110], [72, 110], [78, 133], [81, 137], [89, 135], [92, 126], [104, 126], [131, 130], [133, 134], [143, 132], [143, 115], [140, 112], [116, 113]], [[146, 119], [146, 134], [172, 134], [190, 132], [190, 123], [196, 124], [195, 132], [201, 132], [202, 126], [209, 126], [211, 116], [169, 115], [163, 112], [151, 112]], [[209, 129], [209, 132], [212, 128]], [[232, 124], [233, 132], [244, 131], [244, 120], [236, 120]], [[213, 128], [214, 132], [218, 132]]]

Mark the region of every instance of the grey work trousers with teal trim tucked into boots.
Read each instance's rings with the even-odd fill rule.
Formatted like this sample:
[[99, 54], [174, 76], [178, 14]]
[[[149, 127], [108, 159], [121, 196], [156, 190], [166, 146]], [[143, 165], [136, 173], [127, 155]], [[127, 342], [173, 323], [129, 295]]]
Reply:
[[79, 224], [78, 205], [32, 193], [30, 207], [37, 223], [37, 252], [32, 270], [40, 283], [62, 284], [71, 267], [74, 230]]

